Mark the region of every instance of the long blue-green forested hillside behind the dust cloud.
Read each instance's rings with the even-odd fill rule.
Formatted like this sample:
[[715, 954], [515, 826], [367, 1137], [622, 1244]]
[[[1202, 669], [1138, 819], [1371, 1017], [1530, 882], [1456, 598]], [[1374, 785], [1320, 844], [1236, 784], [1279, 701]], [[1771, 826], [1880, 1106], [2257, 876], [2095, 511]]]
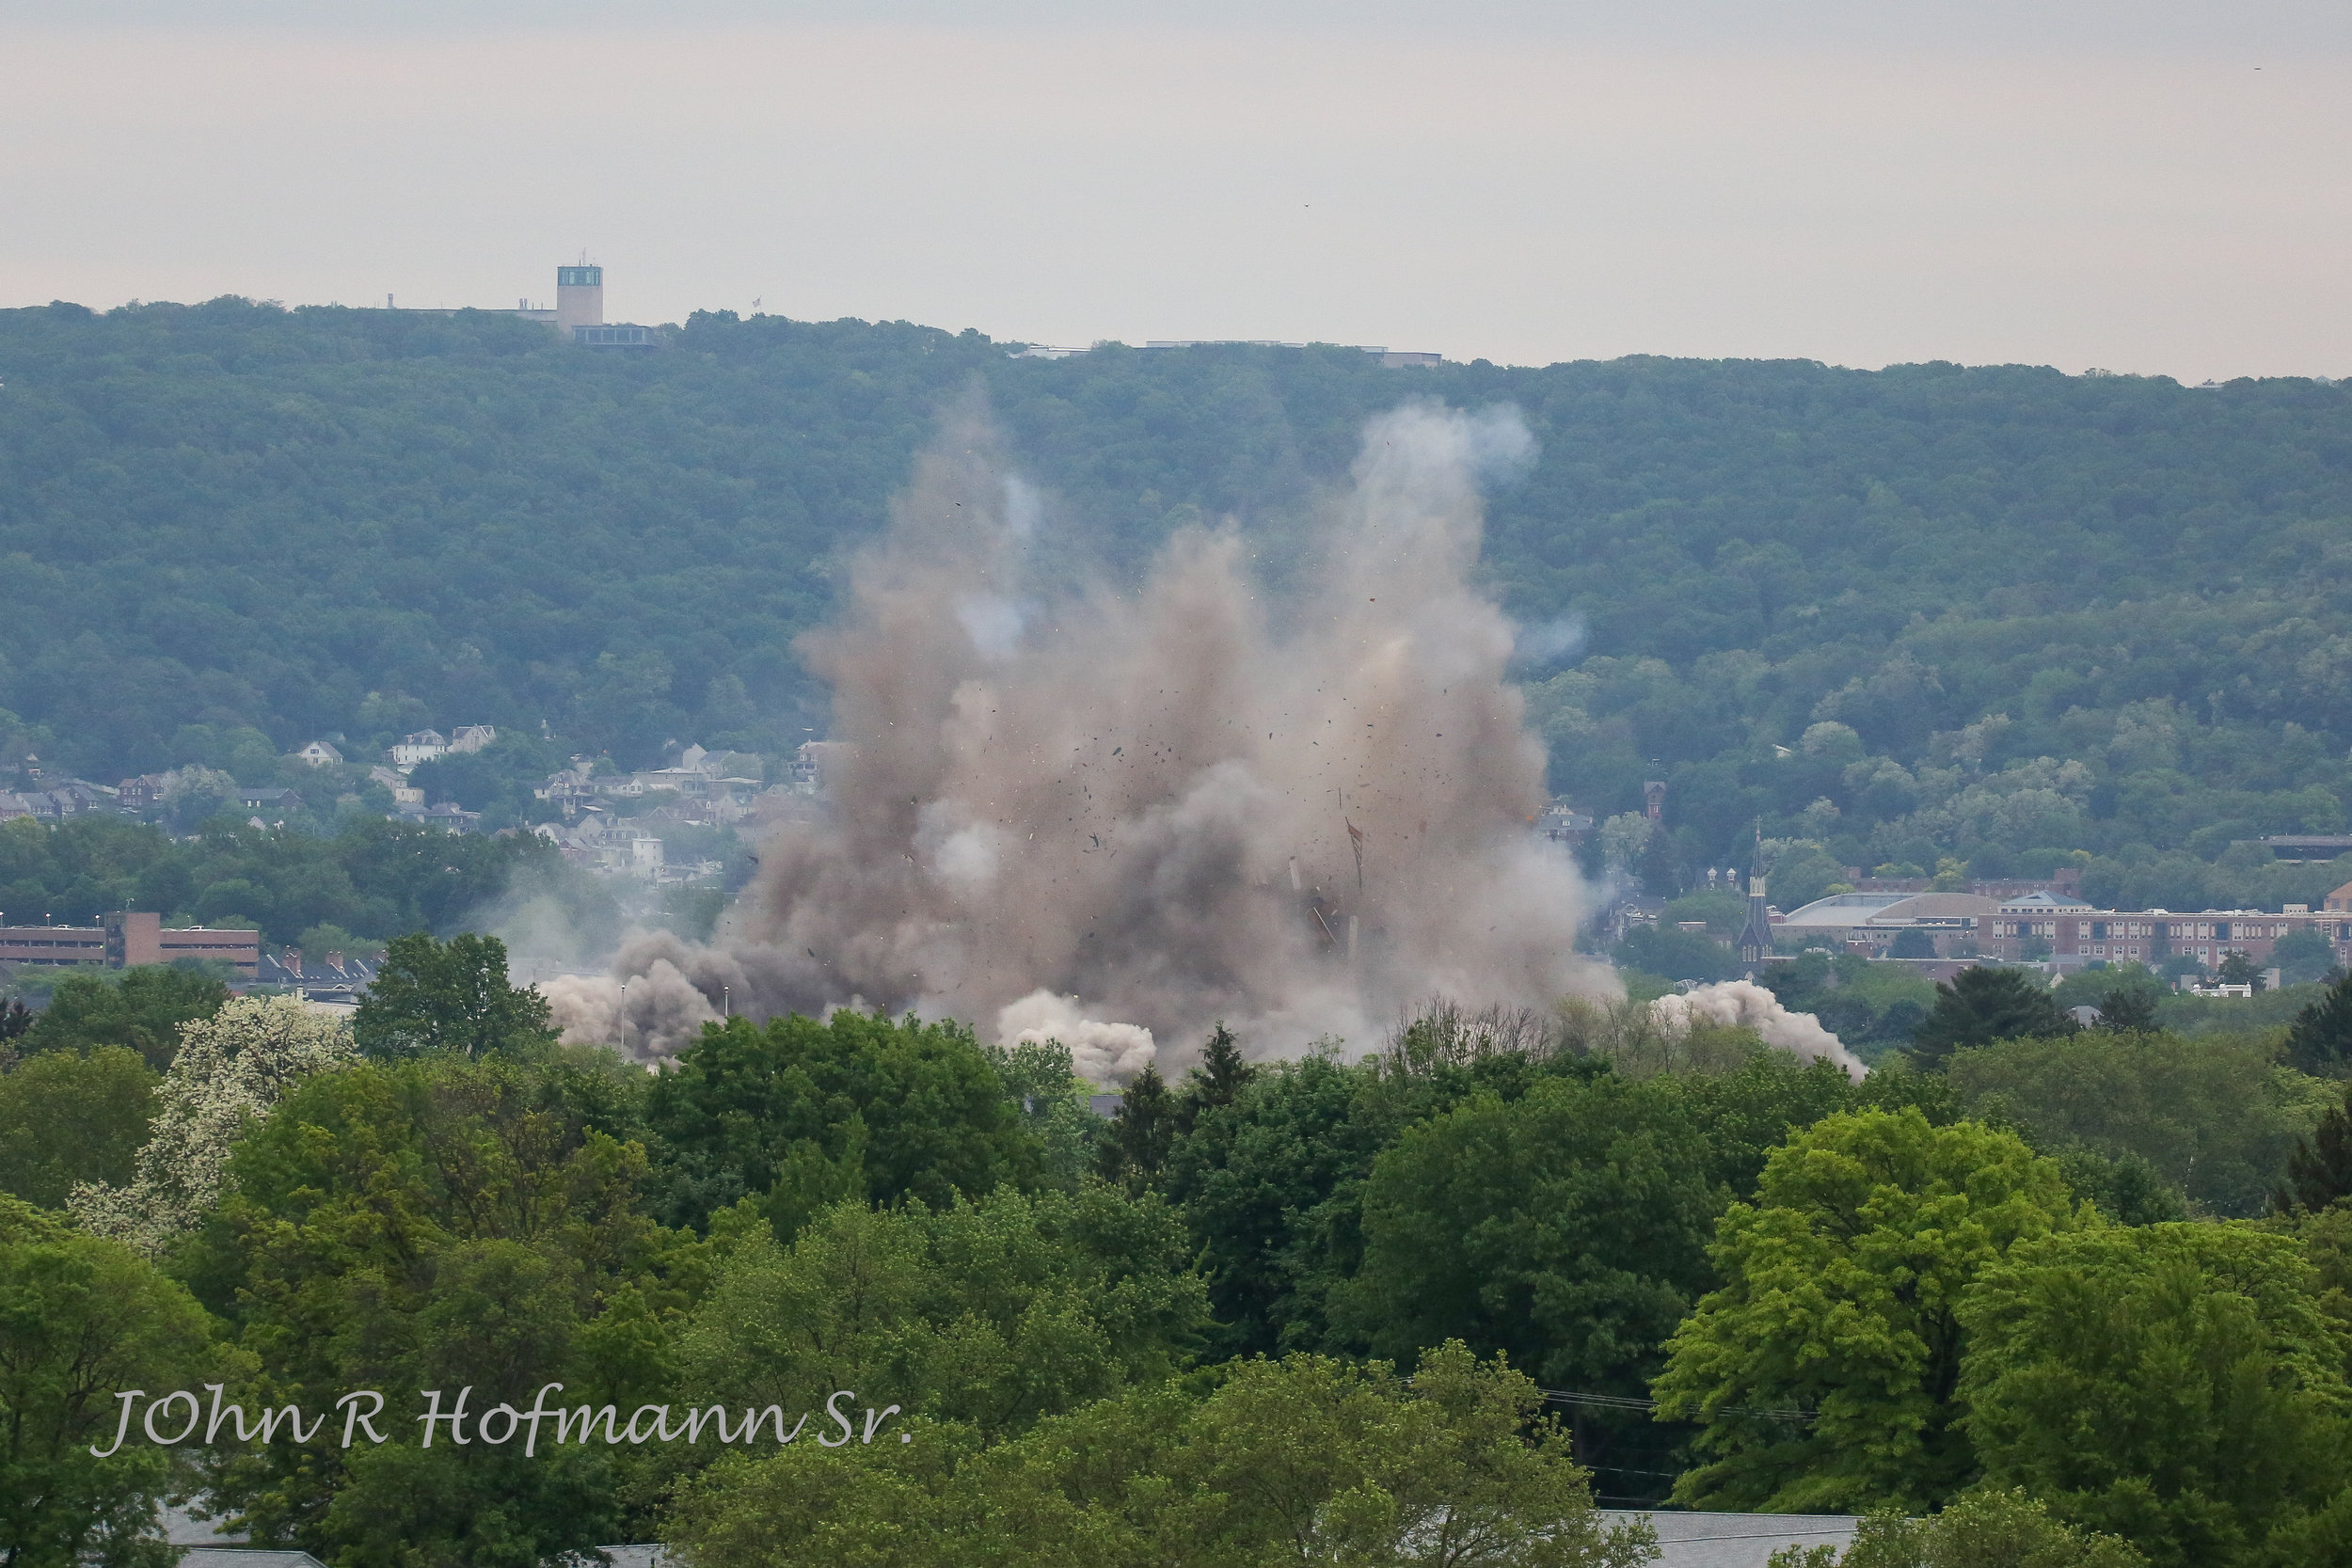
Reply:
[[2178, 879], [2352, 799], [2347, 386], [1014, 360], [724, 313], [637, 357], [499, 315], [0, 313], [0, 708], [99, 778], [188, 759], [186, 724], [774, 752], [823, 712], [793, 637], [974, 376], [1112, 567], [1188, 517], [1296, 538], [1397, 400], [1517, 402], [1543, 454], [1486, 569], [1522, 618], [1588, 623], [1529, 672], [1555, 783], [1609, 813], [1665, 776], [1668, 875], [1764, 813], [1823, 863]]

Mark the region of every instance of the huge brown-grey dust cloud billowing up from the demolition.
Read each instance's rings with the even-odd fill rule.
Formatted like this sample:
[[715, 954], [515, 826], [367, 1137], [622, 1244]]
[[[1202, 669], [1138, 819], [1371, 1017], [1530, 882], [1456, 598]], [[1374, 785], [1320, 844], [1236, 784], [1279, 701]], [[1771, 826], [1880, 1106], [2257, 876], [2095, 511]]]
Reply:
[[1515, 628], [1468, 583], [1479, 475], [1529, 451], [1515, 411], [1406, 407], [1364, 430], [1305, 590], [1183, 529], [1134, 592], [1051, 592], [1035, 491], [950, 418], [802, 642], [833, 684], [828, 813], [762, 844], [710, 947], [647, 938], [612, 992], [550, 997], [647, 1053], [722, 987], [753, 1016], [910, 1006], [1117, 1079], [1218, 1018], [1272, 1056], [1369, 1046], [1411, 997], [1613, 990], [1529, 830]]

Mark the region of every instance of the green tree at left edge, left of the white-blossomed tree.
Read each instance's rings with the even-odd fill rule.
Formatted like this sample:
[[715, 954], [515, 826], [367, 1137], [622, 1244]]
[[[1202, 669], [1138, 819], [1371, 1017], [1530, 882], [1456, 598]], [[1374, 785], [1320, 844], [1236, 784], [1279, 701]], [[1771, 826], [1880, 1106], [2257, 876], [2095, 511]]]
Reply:
[[64, 1208], [75, 1182], [132, 1180], [155, 1081], [129, 1046], [47, 1051], [0, 1074], [0, 1192]]

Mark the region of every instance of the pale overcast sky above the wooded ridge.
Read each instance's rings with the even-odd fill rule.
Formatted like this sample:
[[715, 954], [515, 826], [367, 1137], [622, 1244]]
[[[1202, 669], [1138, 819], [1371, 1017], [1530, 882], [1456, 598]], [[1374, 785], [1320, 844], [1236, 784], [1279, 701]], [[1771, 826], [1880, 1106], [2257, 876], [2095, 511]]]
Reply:
[[2352, 374], [2352, 5], [0, 0], [0, 306]]

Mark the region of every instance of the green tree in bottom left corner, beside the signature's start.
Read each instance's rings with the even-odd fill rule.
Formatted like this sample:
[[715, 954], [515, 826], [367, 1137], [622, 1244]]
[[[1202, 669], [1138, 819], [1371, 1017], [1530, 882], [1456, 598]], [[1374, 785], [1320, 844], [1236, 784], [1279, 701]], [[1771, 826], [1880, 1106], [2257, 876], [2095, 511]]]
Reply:
[[[205, 1314], [127, 1248], [0, 1197], [0, 1563], [167, 1568], [155, 1505], [186, 1486], [174, 1448], [108, 1453], [125, 1389], [198, 1387]], [[94, 1453], [106, 1458], [94, 1458]]]

